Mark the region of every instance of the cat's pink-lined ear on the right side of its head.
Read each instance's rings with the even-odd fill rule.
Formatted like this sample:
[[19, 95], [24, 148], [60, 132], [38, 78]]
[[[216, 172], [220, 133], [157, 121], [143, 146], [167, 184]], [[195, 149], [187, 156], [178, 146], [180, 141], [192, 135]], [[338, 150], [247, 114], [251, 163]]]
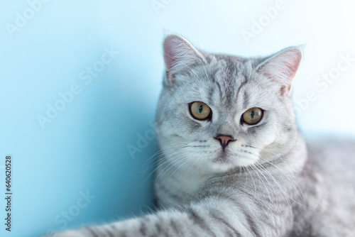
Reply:
[[302, 47], [289, 47], [266, 57], [256, 70], [280, 85], [281, 95], [290, 95], [298, 66], [302, 59]]

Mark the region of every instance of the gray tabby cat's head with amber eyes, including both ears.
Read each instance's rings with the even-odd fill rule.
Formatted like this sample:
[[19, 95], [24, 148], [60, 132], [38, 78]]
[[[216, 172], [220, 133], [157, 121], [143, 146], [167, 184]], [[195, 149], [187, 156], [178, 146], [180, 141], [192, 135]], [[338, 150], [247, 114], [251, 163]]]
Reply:
[[300, 48], [243, 58], [206, 53], [169, 34], [163, 49], [155, 122], [165, 158], [224, 172], [290, 150], [298, 133], [290, 90]]

